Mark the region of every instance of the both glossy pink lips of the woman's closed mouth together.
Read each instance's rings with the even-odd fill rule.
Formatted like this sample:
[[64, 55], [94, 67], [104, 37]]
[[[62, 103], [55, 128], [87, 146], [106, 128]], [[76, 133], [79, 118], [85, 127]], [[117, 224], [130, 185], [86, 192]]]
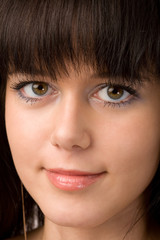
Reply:
[[90, 173], [63, 169], [46, 169], [51, 184], [64, 191], [82, 190], [98, 181], [104, 172]]

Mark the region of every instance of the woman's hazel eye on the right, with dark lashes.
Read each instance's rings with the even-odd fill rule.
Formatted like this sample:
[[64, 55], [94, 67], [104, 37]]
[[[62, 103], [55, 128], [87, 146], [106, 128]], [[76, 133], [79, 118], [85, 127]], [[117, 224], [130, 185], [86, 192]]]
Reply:
[[[126, 90], [127, 89], [127, 90]], [[135, 90], [130, 87], [122, 86], [103, 86], [96, 91], [92, 97], [102, 101], [105, 105], [108, 104], [124, 104], [129, 103], [136, 95]]]

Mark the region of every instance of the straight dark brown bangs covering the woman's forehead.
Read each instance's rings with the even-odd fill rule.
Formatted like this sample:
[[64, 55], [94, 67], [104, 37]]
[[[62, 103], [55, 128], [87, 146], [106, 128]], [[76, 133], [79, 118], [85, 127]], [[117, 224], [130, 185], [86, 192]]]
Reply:
[[158, 1], [2, 0], [0, 23], [1, 74], [160, 73]]

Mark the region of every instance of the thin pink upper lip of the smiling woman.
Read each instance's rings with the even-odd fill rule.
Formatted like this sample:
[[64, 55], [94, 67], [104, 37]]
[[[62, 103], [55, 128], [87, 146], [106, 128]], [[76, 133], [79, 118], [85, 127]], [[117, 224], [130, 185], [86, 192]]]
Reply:
[[93, 172], [86, 172], [86, 171], [79, 171], [79, 170], [59, 169], [59, 168], [46, 169], [46, 171], [51, 173], [59, 173], [61, 175], [68, 175], [68, 176], [92, 176], [92, 175], [100, 175], [105, 173], [105, 171], [93, 173]]

